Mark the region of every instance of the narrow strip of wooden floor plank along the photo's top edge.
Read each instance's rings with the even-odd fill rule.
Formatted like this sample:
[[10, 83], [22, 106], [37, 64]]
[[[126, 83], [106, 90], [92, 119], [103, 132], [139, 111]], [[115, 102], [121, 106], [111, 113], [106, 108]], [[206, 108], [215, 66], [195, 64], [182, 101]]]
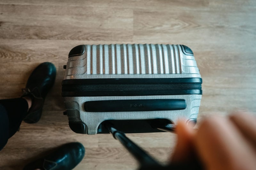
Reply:
[[194, 1], [186, 1], [186, 0], [136, 0], [136, 1], [116, 1], [116, 0], [108, 0], [108, 1], [90, 1], [90, 0], [76, 0], [75, 2], [71, 2], [68, 0], [64, 1], [51, 1], [46, 0], [44, 2], [40, 0], [29, 1], [29, 0], [1, 0], [0, 4], [13, 4], [13, 5], [57, 5], [57, 6], [82, 6], [82, 7], [128, 7], [128, 8], [145, 8], [145, 9], [169, 9], [170, 7], [176, 7], [180, 9], [198, 9], [204, 8], [209, 5], [209, 0], [194, 0]]

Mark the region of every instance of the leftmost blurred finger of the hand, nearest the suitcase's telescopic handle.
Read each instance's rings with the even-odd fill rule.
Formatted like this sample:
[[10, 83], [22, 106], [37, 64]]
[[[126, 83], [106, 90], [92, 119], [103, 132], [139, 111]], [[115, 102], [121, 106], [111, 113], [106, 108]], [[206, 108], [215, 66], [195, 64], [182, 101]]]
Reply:
[[192, 144], [194, 131], [184, 122], [178, 122], [176, 133], [177, 144], [171, 160], [172, 162], [188, 162], [194, 157], [194, 144]]

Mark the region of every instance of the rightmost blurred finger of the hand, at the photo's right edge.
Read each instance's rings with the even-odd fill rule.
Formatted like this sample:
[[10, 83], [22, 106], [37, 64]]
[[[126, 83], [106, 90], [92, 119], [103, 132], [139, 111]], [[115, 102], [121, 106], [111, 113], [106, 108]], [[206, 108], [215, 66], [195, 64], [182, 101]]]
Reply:
[[245, 112], [237, 112], [230, 115], [230, 120], [256, 150], [256, 118]]

